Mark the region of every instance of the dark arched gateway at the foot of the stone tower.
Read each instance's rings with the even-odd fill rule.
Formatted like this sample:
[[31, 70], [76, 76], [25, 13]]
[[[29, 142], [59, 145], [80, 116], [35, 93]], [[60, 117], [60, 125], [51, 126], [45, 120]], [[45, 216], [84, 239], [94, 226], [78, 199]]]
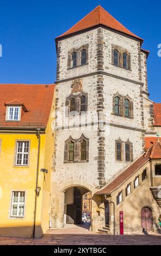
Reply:
[[[82, 214], [83, 214], [83, 205], [84, 199], [83, 196], [86, 193], [91, 192], [80, 186], [69, 187], [64, 192], [64, 216], [63, 216], [63, 225], [65, 224], [82, 224]], [[91, 198], [91, 196], [90, 196]], [[91, 201], [90, 201], [91, 209]], [[89, 221], [88, 216], [86, 216], [87, 222]]]

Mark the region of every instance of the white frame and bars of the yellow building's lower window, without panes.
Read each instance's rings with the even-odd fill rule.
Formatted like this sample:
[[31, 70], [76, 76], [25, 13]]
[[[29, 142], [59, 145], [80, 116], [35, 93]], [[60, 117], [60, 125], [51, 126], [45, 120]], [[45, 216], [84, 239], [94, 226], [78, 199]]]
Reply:
[[[14, 202], [14, 193], [18, 193], [18, 200], [15, 203]], [[20, 194], [24, 193], [24, 201], [20, 202]], [[18, 217], [18, 218], [23, 218], [24, 217], [24, 206], [25, 206], [25, 198], [26, 197], [26, 192], [25, 191], [13, 191], [12, 192], [12, 201], [11, 201], [11, 215], [10, 217]], [[13, 215], [13, 205], [17, 205], [17, 214]], [[23, 215], [19, 215], [19, 209], [20, 206], [23, 206]]]

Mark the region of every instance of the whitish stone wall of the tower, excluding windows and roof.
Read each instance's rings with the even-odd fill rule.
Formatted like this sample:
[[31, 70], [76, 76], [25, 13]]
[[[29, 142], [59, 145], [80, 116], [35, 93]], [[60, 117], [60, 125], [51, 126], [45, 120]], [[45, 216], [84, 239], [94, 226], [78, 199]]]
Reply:
[[[72, 48], [88, 45], [88, 62], [69, 68]], [[113, 65], [112, 47], [125, 48], [130, 54], [131, 68]], [[147, 92], [146, 54], [140, 42], [103, 27], [68, 36], [58, 41], [57, 83], [55, 93], [55, 144], [53, 155], [53, 191], [51, 217], [53, 227], [63, 223], [64, 191], [71, 186], [83, 186], [92, 192], [93, 227], [104, 223], [104, 210], [96, 190], [106, 185], [131, 162], [115, 160], [115, 141], [129, 140], [133, 144], [133, 159], [143, 154], [145, 119], [144, 90]], [[67, 117], [66, 97], [72, 93], [75, 78], [80, 79], [80, 91], [88, 94], [87, 112]], [[74, 82], [73, 82], [74, 81]], [[113, 113], [113, 95], [128, 95], [133, 101], [133, 116]], [[147, 97], [147, 94], [145, 94]], [[150, 112], [146, 111], [146, 120]], [[62, 121], [63, 120], [63, 121]], [[64, 163], [64, 143], [72, 136], [89, 138], [89, 162]]]

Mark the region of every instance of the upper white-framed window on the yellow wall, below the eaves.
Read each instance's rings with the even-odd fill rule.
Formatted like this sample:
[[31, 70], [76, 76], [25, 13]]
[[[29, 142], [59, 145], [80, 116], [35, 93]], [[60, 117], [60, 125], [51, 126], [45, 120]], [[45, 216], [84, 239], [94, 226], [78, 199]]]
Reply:
[[29, 141], [17, 141], [16, 166], [28, 166]]

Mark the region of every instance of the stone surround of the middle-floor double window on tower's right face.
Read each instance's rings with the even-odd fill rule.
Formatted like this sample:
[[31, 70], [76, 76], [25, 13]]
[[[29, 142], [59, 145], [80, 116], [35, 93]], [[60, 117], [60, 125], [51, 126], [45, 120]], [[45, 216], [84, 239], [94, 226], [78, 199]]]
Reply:
[[[115, 113], [115, 97], [119, 97], [120, 99], [120, 114]], [[125, 115], [125, 100], [129, 100], [129, 116]], [[113, 112], [112, 115], [117, 115], [119, 117], [125, 117], [125, 118], [134, 118], [133, 117], [133, 101], [131, 97], [127, 94], [126, 96], [123, 96], [119, 94], [119, 92], [115, 93], [113, 95]]]

